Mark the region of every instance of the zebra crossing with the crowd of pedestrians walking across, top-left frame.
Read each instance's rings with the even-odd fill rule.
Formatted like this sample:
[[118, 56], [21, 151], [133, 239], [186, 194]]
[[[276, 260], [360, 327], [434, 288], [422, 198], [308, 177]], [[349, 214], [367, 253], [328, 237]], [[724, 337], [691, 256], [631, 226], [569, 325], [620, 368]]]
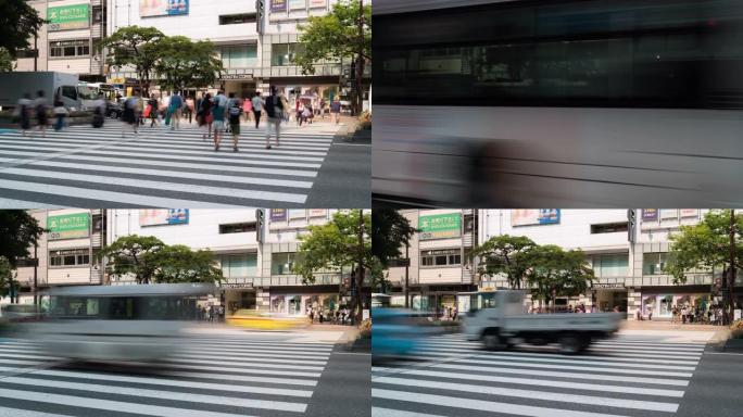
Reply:
[[146, 126], [135, 135], [117, 121], [46, 137], [3, 132], [0, 200], [24, 203], [18, 206], [299, 207], [333, 138], [293, 129], [281, 134], [278, 148], [265, 149], [265, 127], [242, 126], [238, 152], [229, 134], [215, 152], [202, 134]]

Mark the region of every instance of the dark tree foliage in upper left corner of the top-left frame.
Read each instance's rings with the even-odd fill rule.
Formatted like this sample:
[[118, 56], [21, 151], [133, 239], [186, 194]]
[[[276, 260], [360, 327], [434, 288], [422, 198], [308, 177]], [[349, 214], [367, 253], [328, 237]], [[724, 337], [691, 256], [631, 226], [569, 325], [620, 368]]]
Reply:
[[2, 0], [0, 12], [0, 48], [15, 58], [18, 50], [30, 48], [29, 39], [46, 21], [25, 0]]

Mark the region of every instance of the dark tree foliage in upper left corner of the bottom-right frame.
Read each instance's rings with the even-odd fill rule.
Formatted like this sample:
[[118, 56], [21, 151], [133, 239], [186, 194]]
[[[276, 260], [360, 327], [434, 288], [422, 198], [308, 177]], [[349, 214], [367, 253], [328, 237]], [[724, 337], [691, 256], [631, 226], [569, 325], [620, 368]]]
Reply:
[[418, 230], [393, 208], [375, 208], [372, 212], [372, 250], [381, 267], [390, 260], [402, 257], [401, 248], [408, 244]]

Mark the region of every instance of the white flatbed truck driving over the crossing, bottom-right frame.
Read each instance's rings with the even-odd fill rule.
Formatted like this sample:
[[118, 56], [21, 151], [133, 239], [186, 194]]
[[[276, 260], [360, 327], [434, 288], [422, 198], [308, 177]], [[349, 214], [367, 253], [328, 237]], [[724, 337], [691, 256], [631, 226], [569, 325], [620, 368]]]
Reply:
[[516, 343], [558, 343], [561, 352], [576, 354], [593, 340], [610, 338], [619, 330], [619, 313], [528, 314], [524, 291], [480, 292], [474, 295], [464, 320], [468, 340], [481, 340], [488, 350]]

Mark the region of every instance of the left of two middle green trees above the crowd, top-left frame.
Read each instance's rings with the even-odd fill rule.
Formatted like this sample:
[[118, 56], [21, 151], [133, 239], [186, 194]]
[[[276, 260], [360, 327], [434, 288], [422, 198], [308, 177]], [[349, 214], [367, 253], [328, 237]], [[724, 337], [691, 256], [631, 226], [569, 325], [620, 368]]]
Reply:
[[139, 88], [147, 97], [163, 38], [165, 35], [154, 27], [126, 26], [104, 38], [101, 46], [109, 49], [109, 65], [135, 67]]

